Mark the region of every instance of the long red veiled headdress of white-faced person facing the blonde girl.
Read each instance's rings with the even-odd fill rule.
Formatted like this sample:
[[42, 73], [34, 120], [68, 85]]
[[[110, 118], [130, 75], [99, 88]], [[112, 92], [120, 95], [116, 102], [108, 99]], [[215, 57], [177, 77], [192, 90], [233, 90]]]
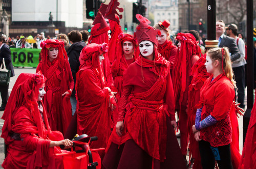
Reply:
[[186, 89], [186, 78], [187, 73], [190, 76], [191, 71], [191, 57], [193, 55], [199, 55], [201, 49], [197, 44], [195, 37], [189, 33], [179, 33], [176, 39], [180, 41], [180, 50], [177, 51], [175, 65], [173, 69], [173, 82], [174, 82], [174, 92], [175, 100], [178, 101], [183, 99], [183, 94]]

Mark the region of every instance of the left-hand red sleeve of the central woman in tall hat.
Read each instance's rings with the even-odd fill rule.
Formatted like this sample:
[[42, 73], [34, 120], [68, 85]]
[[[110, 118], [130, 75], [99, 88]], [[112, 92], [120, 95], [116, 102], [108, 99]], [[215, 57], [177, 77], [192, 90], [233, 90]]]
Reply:
[[132, 91], [132, 86], [123, 87], [122, 96], [121, 96], [119, 107], [118, 107], [119, 109], [118, 119], [117, 119], [118, 122], [123, 121], [124, 119], [124, 115], [126, 111], [125, 106], [127, 105], [128, 97], [130, 96], [131, 91]]

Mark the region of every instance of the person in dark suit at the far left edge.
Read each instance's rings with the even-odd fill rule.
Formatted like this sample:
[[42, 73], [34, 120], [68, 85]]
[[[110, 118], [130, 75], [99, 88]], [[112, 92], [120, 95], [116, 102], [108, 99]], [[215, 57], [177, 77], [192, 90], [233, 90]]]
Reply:
[[[5, 37], [0, 36], [0, 65], [2, 65], [3, 58], [4, 58], [6, 69], [11, 70], [11, 77], [12, 77], [14, 76], [14, 70], [12, 66], [11, 50], [5, 42], [6, 42]], [[0, 111], [5, 110], [5, 106], [9, 98], [8, 89], [9, 89], [9, 85], [0, 86], [0, 93], [2, 98], [2, 105], [0, 107]]]

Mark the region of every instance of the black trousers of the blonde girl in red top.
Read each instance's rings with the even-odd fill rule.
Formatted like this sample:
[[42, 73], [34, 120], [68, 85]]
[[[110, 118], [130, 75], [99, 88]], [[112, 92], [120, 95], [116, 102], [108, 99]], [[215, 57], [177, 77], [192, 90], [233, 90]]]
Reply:
[[[220, 169], [233, 169], [231, 162], [230, 144], [226, 146], [217, 147], [219, 150], [220, 160], [217, 160]], [[210, 143], [201, 140], [199, 142], [199, 151], [201, 156], [201, 163], [204, 169], [215, 168], [215, 156], [210, 148]]]

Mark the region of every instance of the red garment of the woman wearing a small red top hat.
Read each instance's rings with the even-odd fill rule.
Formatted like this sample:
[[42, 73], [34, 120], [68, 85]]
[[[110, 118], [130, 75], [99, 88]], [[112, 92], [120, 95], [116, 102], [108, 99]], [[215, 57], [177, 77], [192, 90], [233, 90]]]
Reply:
[[162, 57], [170, 62], [170, 73], [173, 71], [177, 50], [178, 47], [169, 40], [166, 40], [162, 45], [158, 44], [157, 46], [157, 51], [162, 55]]

